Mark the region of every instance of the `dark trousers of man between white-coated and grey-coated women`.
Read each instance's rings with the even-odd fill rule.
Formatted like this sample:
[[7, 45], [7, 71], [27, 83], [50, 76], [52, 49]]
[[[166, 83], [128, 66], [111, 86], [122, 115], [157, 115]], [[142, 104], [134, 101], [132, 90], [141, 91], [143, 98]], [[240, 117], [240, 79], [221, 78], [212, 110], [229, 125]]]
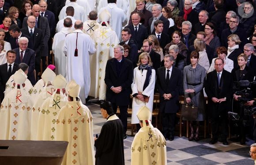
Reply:
[[174, 136], [175, 117], [176, 113], [162, 113], [162, 133], [165, 138], [171, 138]]

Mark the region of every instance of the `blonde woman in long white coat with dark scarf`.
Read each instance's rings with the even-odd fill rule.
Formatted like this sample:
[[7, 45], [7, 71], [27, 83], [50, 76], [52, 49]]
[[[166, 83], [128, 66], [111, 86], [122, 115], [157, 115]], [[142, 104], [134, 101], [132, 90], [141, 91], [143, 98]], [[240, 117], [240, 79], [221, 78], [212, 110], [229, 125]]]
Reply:
[[155, 70], [152, 67], [150, 56], [147, 52], [139, 55], [138, 66], [133, 71], [132, 82], [132, 124], [137, 124], [139, 131], [139, 119], [136, 116], [142, 106], [147, 106], [151, 112], [154, 100]]

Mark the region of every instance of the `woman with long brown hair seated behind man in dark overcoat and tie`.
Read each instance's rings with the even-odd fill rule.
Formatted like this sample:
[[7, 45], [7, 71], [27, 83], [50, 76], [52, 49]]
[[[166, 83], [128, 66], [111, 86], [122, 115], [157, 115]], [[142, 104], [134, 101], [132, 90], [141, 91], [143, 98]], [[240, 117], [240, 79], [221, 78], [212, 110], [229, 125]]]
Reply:
[[187, 55], [188, 55], [188, 48], [186, 47], [185, 44], [183, 44], [183, 42], [181, 41], [181, 33], [178, 31], [173, 32], [172, 34], [172, 41], [166, 45], [165, 47], [165, 55], [169, 54], [169, 47], [171, 45], [177, 45], [179, 47], [179, 53], [181, 55], [183, 55], [185, 57], [185, 59], [187, 59]]

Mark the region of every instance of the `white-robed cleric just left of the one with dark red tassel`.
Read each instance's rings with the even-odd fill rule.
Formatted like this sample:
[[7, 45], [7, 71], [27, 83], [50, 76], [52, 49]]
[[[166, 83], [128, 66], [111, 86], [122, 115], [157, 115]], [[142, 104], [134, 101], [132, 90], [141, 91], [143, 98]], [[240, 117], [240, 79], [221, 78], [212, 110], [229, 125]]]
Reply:
[[66, 77], [66, 61], [67, 57], [65, 56], [63, 49], [65, 44], [65, 38], [69, 33], [72, 33], [72, 22], [71, 18], [64, 19], [64, 27], [60, 32], [56, 33], [53, 37], [53, 53], [54, 53], [54, 63], [56, 66], [56, 74], [61, 74]]

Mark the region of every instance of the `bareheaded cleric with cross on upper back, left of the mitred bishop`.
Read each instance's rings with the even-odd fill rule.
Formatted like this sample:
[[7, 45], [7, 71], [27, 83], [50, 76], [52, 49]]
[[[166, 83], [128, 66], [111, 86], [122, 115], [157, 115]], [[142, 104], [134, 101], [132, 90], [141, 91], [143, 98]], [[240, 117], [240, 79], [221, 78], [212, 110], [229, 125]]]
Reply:
[[90, 11], [88, 18], [89, 20], [83, 22], [83, 33], [86, 33], [93, 38], [95, 30], [101, 27], [101, 25], [96, 21], [98, 19], [97, 11]]

